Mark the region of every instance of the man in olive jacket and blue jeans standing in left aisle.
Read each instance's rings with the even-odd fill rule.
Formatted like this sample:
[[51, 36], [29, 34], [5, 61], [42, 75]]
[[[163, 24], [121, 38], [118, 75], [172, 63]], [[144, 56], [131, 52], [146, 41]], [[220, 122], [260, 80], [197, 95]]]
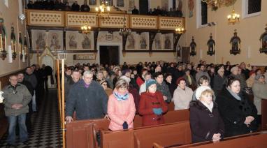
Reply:
[[11, 75], [9, 82], [10, 84], [3, 88], [3, 104], [9, 124], [7, 142], [9, 146], [16, 146], [17, 123], [20, 127], [20, 142], [26, 144], [28, 140], [26, 114], [29, 112], [31, 94], [24, 84], [17, 83], [17, 75]]

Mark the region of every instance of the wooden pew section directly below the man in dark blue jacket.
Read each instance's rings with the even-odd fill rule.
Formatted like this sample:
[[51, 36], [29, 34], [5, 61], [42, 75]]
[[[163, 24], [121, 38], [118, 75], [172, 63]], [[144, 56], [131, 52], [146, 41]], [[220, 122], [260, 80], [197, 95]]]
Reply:
[[108, 130], [108, 119], [89, 119], [66, 124], [68, 147], [96, 147], [96, 132]]

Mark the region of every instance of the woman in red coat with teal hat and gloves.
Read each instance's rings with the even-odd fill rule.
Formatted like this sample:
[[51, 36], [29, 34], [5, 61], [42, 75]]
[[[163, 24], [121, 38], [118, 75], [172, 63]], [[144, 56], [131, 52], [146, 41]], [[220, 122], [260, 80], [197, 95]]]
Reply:
[[145, 82], [147, 91], [140, 96], [139, 114], [143, 115], [143, 126], [164, 124], [162, 114], [168, 111], [168, 107], [161, 92], [157, 91], [154, 79]]

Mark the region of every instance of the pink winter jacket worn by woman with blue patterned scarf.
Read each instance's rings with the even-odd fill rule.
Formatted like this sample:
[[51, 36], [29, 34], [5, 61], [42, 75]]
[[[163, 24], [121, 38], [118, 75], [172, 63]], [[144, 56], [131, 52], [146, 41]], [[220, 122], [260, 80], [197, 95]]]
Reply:
[[[114, 89], [113, 93], [117, 92]], [[127, 121], [128, 128], [133, 128], [133, 119], [136, 114], [136, 106], [134, 104], [133, 95], [129, 94], [129, 98], [125, 101], [118, 101], [114, 94], [108, 98], [108, 117], [110, 117], [110, 125], [108, 128], [112, 131], [122, 130], [122, 124]]]

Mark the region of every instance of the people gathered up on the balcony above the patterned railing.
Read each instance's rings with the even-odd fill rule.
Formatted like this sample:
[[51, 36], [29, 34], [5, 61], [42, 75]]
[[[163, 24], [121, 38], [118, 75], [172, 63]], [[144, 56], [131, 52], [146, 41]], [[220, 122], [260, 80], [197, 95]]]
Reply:
[[[61, 0], [46, 0], [46, 1], [29, 1], [27, 3], [28, 9], [39, 9], [39, 10], [68, 10], [68, 11], [81, 11], [81, 12], [89, 12], [91, 10], [90, 6], [87, 3], [87, 0], [84, 3], [78, 3], [78, 1], [74, 1], [70, 4], [68, 1]], [[115, 10], [120, 10], [116, 6], [113, 6]], [[139, 10], [136, 6], [133, 6], [133, 10], [131, 10], [131, 14], [138, 15], [140, 14]], [[147, 10], [147, 14], [142, 15], [159, 15], [159, 16], [168, 16], [168, 17], [182, 17], [182, 10], [180, 8], [168, 8], [157, 6], [157, 8], [150, 8]]]

